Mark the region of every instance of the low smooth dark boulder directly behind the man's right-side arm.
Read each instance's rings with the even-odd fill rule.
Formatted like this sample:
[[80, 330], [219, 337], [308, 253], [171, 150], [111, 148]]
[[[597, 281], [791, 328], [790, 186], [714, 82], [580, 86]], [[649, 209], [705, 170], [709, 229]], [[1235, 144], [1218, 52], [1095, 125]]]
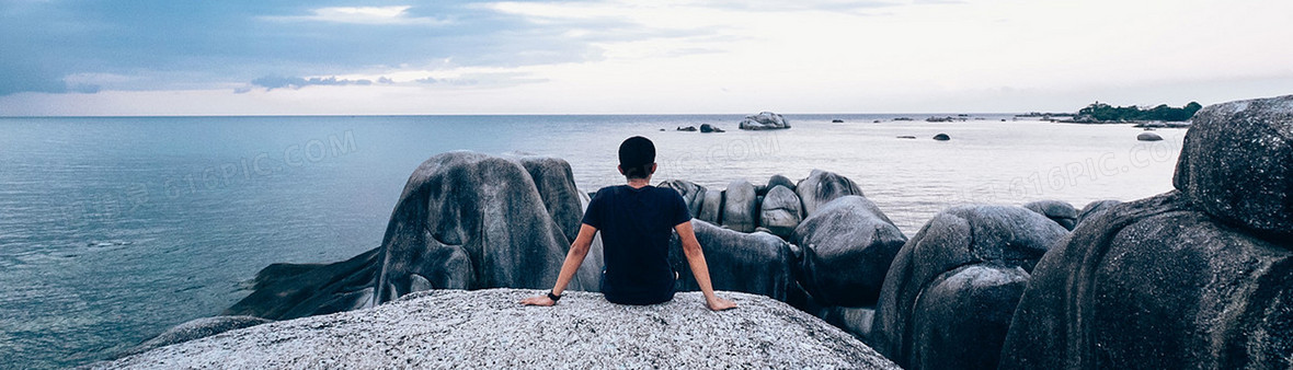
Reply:
[[[795, 283], [794, 250], [781, 238], [768, 233], [740, 233], [693, 220], [696, 239], [701, 242], [710, 281], [715, 290], [741, 291], [789, 301]], [[696, 277], [683, 255], [678, 233], [670, 239], [670, 264], [678, 272], [679, 291], [696, 291]]]

